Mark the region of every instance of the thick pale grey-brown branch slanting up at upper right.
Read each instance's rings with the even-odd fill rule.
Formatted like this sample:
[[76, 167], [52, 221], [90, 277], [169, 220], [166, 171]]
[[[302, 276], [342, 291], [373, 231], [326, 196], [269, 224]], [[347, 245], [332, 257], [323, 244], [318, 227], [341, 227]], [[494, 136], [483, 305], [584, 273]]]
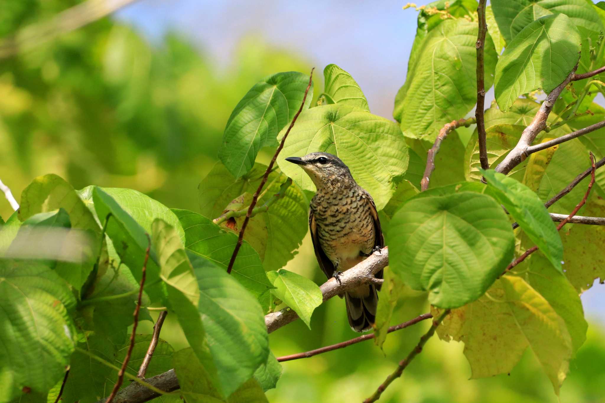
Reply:
[[521, 138], [517, 145], [506, 155], [502, 163], [498, 164], [495, 168], [496, 172], [504, 173], [505, 175], [522, 163], [527, 157], [525, 150], [531, 146], [531, 143], [535, 140], [535, 137], [543, 131], [546, 127], [546, 119], [552, 111], [552, 107], [555, 105], [555, 101], [561, 95], [561, 91], [567, 84], [575, 77], [575, 71], [578, 65], [575, 65], [571, 73], [567, 74], [567, 78], [560, 83], [557, 88], [553, 89], [548, 97], [542, 102], [540, 109], [536, 112], [529, 126], [523, 130]]

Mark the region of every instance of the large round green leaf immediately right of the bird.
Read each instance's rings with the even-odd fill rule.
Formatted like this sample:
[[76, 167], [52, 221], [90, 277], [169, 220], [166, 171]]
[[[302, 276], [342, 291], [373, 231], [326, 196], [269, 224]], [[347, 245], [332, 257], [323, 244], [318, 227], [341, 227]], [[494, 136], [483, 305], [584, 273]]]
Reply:
[[395, 213], [390, 267], [410, 288], [429, 291], [432, 305], [456, 308], [479, 298], [502, 274], [514, 236], [489, 196], [439, 192], [420, 193]]

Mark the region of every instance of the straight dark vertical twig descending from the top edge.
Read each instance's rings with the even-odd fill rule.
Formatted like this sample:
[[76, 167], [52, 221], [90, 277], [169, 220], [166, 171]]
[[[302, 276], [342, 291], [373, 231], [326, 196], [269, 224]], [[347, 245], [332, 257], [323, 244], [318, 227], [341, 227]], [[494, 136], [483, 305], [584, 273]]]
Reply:
[[477, 108], [475, 118], [477, 119], [477, 134], [479, 136], [479, 161], [483, 169], [489, 169], [488, 149], [486, 145], [487, 134], [485, 133], [485, 120], [483, 119], [485, 109], [485, 70], [483, 68], [483, 49], [485, 48], [485, 35], [488, 25], [485, 22], [486, 0], [479, 0], [477, 16], [479, 21], [479, 33], [477, 34]]

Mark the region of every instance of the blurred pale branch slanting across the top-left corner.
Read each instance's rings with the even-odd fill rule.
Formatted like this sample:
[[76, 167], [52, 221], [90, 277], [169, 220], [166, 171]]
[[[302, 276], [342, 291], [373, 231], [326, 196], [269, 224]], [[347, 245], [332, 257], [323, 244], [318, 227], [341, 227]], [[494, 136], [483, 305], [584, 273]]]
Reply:
[[0, 41], [0, 59], [13, 56], [20, 51], [30, 50], [59, 36], [97, 19], [110, 15], [114, 11], [136, 0], [88, 0], [60, 12], [49, 21], [29, 25], [12, 37]]

